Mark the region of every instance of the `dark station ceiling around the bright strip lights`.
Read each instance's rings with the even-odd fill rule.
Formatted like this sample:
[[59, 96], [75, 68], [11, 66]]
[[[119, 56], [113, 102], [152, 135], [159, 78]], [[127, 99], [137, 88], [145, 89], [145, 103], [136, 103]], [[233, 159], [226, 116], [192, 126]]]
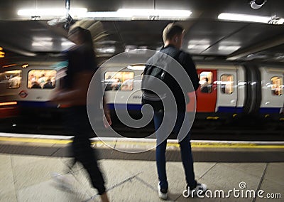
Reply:
[[[70, 0], [70, 9], [117, 11], [118, 9], [182, 9], [192, 12], [190, 18], [179, 21], [186, 29], [182, 49], [201, 60], [258, 60], [284, 62], [284, 24], [251, 23], [219, 20], [221, 13], [276, 16], [284, 18], [284, 1], [268, 0], [261, 9], [251, 9], [246, 0]], [[65, 8], [65, 0], [0, 1], [0, 46], [11, 58], [15, 55], [36, 57], [56, 55], [70, 46], [67, 31], [58, 23], [48, 21], [58, 17], [32, 18], [18, 16], [19, 9]], [[64, 17], [65, 14], [62, 14]], [[161, 33], [172, 20], [106, 20], [75, 18], [77, 26], [89, 28], [97, 56], [102, 60], [124, 50], [163, 46]]]

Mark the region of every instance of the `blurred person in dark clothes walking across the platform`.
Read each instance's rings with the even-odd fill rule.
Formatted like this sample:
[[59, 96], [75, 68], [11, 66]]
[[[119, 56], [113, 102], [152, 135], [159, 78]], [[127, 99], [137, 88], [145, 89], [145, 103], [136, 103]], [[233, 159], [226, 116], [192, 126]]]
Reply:
[[[87, 115], [87, 90], [90, 80], [97, 70], [96, 58], [92, 36], [89, 30], [79, 26], [72, 28], [68, 33], [70, 41], [75, 46], [67, 51], [68, 67], [66, 76], [63, 78], [62, 88], [53, 95], [53, 102], [70, 105], [65, 114], [65, 121], [68, 129], [75, 135], [72, 142], [72, 152], [75, 161], [79, 161], [87, 170], [92, 186], [97, 188], [102, 201], [109, 201], [104, 177], [97, 164], [97, 157], [89, 141], [90, 134], [93, 133]], [[97, 83], [99, 88], [101, 83]], [[99, 107], [99, 97], [94, 97], [95, 103]], [[104, 105], [106, 107], [106, 105]], [[105, 108], [105, 112], [108, 110]], [[109, 113], [106, 114], [107, 122], [110, 125]]]

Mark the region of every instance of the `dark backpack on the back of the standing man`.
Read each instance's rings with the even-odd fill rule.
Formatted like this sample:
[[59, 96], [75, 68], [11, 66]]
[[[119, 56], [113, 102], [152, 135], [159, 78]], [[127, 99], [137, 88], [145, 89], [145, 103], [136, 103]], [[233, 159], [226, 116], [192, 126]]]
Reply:
[[[141, 82], [143, 104], [160, 106], [159, 102], [167, 97], [167, 91], [163, 87], [159, 88], [159, 81], [168, 87], [173, 83], [174, 78], [167, 70], [174, 63], [172, 58], [178, 60], [180, 53], [181, 50], [175, 50], [170, 54], [158, 52], [148, 60]], [[151, 89], [155, 89], [155, 91]]]

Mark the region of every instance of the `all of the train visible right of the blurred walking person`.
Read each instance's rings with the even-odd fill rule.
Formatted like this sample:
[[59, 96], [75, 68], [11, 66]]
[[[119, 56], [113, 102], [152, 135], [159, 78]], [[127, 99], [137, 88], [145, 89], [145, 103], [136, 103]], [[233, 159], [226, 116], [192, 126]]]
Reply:
[[[105, 68], [105, 89], [112, 111], [114, 101], [117, 109], [125, 105], [126, 100], [130, 112], [141, 111], [143, 68], [145, 65], [141, 64], [119, 71], [114, 67]], [[238, 117], [269, 117], [283, 121], [284, 69], [280, 66], [197, 62], [196, 68], [200, 87], [195, 92], [195, 119], [228, 121]], [[190, 100], [195, 99], [192, 93], [188, 95]], [[194, 106], [189, 102], [187, 111], [192, 110]]]

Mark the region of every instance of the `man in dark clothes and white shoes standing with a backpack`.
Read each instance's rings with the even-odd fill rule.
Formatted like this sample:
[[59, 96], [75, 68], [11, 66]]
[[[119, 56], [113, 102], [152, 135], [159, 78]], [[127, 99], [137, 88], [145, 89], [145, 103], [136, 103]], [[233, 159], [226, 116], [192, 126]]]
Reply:
[[[170, 23], [165, 27], [163, 31], [164, 46], [148, 60], [141, 85], [143, 104], [151, 105], [154, 110], [153, 119], [157, 137], [156, 164], [159, 179], [158, 196], [164, 200], [168, 198], [165, 149], [170, 132], [177, 136], [180, 144], [187, 191], [189, 193], [199, 191], [200, 193], [207, 189], [205, 184], [197, 183], [193, 170], [190, 117], [187, 115], [186, 105], [190, 102], [187, 93], [197, 90], [199, 79], [192, 58], [188, 53], [180, 50], [183, 34], [183, 28], [175, 23]], [[186, 77], [189, 79], [186, 80]], [[192, 84], [190, 84], [190, 80]], [[170, 130], [165, 129], [171, 123], [173, 127]]]

